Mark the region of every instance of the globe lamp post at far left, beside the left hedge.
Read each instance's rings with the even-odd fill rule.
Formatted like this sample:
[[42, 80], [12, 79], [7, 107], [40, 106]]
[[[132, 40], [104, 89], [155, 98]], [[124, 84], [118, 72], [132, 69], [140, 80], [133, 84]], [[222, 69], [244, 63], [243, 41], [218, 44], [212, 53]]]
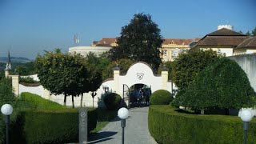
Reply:
[[6, 144], [9, 144], [9, 122], [10, 122], [10, 114], [13, 113], [13, 107], [9, 104], [4, 104], [1, 107], [2, 114], [6, 116]]

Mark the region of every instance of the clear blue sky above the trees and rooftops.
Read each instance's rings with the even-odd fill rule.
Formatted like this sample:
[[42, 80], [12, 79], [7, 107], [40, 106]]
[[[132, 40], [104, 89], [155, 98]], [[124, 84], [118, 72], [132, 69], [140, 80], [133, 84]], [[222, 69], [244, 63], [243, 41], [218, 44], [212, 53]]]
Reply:
[[0, 0], [0, 56], [34, 59], [44, 50], [116, 38], [136, 13], [150, 14], [163, 38], [202, 38], [230, 24], [256, 27], [254, 0]]

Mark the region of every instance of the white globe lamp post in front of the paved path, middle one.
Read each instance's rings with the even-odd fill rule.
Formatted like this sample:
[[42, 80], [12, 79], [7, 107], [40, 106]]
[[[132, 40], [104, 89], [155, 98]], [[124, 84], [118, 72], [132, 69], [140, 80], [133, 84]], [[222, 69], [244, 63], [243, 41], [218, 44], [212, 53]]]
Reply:
[[124, 144], [125, 141], [125, 127], [126, 127], [126, 118], [129, 116], [129, 111], [122, 107], [118, 110], [118, 117], [121, 118], [121, 127], [122, 127], [122, 144]]

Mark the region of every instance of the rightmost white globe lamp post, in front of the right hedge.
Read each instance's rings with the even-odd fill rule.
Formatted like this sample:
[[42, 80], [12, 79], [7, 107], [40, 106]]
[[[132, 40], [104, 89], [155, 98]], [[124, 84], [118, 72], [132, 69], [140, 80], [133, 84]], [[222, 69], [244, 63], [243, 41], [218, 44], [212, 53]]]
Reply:
[[250, 120], [253, 118], [253, 114], [251, 114], [250, 110], [242, 110], [240, 117], [243, 122], [243, 130], [245, 131], [243, 143], [246, 144], [246, 134], [247, 134], [247, 130], [248, 130], [248, 124], [249, 124]]

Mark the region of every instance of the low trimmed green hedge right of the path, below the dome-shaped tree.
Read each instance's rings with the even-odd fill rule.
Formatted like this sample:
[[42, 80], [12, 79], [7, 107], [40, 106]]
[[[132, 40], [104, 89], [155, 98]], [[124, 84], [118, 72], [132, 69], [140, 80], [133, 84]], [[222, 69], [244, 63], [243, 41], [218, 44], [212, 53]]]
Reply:
[[[243, 124], [236, 116], [178, 112], [171, 106], [149, 110], [150, 134], [158, 143], [242, 143]], [[256, 119], [249, 123], [247, 143], [256, 142]]]

